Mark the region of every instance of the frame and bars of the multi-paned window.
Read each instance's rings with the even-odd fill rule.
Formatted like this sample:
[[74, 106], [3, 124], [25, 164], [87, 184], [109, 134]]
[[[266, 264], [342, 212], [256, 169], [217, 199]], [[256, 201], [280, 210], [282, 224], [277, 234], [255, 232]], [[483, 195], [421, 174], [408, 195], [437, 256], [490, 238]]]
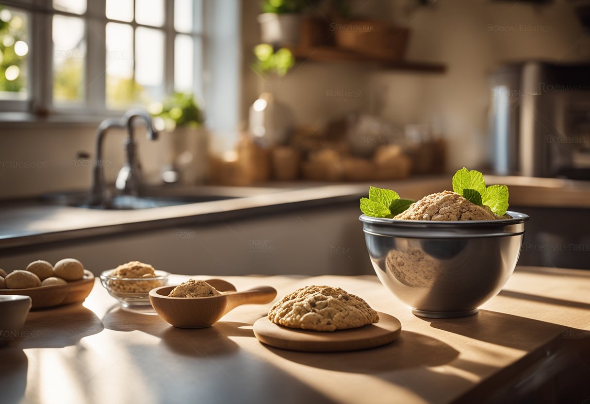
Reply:
[[[205, 39], [205, 22], [200, 21], [196, 26], [200, 27], [196, 32], [180, 32], [174, 28], [174, 0], [165, 1], [165, 18], [162, 27], [138, 24], [135, 21], [135, 2], [133, 1], [133, 21], [118, 21], [106, 17], [106, 0], [88, 0], [87, 10], [84, 14], [73, 14], [55, 10], [52, 0], [0, 0], [0, 4], [27, 12], [29, 17], [28, 36], [31, 43], [31, 51], [28, 58], [28, 99], [27, 100], [0, 100], [0, 113], [3, 112], [27, 112], [31, 116], [86, 116], [88, 120], [93, 117], [104, 118], [107, 116], [119, 116], [120, 110], [110, 110], [106, 107], [106, 24], [116, 22], [133, 27], [133, 43], [135, 56], [135, 29], [146, 27], [152, 30], [160, 30], [165, 37], [164, 56], [164, 89], [166, 93], [174, 91], [174, 48], [177, 34], [190, 35], [193, 40], [201, 41], [201, 60], [205, 64], [207, 40]], [[195, 6], [204, 8], [202, 1], [196, 1]], [[87, 41], [87, 53], [85, 66], [85, 81], [87, 86], [84, 92], [84, 103], [80, 105], [60, 105], [53, 102], [53, 15], [77, 17], [86, 23], [85, 37]], [[205, 12], [201, 9], [198, 13], [204, 18]], [[41, 27], [41, 28], [37, 28]], [[204, 84], [199, 77], [203, 77], [204, 66], [194, 66], [193, 92], [202, 103], [204, 98]], [[197, 73], [199, 72], [199, 73]], [[90, 79], [94, 77], [94, 79]]]

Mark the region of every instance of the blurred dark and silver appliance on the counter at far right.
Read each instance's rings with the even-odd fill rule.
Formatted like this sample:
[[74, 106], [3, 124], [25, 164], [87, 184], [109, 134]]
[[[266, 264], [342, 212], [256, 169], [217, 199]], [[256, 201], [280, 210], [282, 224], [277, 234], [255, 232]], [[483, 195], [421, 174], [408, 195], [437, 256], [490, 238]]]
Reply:
[[590, 180], [590, 64], [508, 64], [490, 84], [496, 174]]

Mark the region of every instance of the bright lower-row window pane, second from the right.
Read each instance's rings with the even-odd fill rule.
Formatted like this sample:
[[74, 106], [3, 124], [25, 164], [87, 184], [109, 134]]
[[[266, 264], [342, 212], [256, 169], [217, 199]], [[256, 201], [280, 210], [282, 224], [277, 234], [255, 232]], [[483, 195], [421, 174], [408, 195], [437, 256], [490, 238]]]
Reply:
[[150, 100], [164, 95], [164, 32], [138, 27], [135, 30], [135, 80]]

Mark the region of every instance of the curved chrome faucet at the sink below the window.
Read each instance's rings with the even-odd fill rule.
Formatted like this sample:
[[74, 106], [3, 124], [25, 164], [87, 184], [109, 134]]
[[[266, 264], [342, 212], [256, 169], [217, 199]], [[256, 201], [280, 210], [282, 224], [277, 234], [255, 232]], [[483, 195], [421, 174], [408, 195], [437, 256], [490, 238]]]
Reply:
[[128, 110], [123, 118], [109, 118], [100, 122], [96, 130], [96, 164], [94, 165], [92, 187], [90, 188], [89, 206], [109, 206], [110, 198], [104, 183], [103, 144], [107, 131], [111, 128], [127, 128], [127, 138], [123, 141], [127, 161], [117, 175], [115, 186], [124, 195], [138, 196], [141, 189], [141, 165], [137, 158], [137, 143], [133, 138], [133, 125], [140, 118], [146, 125], [146, 136], [149, 140], [158, 139], [158, 132], [153, 128], [152, 117], [143, 109]]

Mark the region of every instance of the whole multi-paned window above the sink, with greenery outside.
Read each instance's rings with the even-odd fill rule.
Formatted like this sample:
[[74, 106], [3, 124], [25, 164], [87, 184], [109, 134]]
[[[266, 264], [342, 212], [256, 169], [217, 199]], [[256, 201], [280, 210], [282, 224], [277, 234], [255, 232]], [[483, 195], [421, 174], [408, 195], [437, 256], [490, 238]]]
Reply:
[[202, 0], [0, 0], [0, 111], [204, 98]]

